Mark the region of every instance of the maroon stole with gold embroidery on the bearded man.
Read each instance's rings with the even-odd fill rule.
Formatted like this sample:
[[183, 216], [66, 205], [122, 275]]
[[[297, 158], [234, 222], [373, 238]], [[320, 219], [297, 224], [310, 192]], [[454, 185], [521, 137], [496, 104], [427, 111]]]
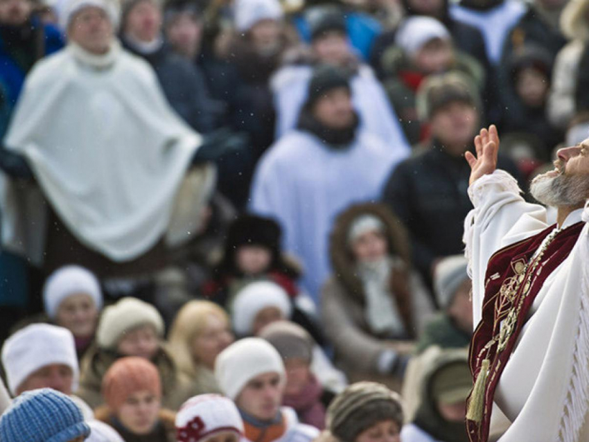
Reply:
[[489, 440], [495, 389], [520, 335], [529, 308], [547, 277], [570, 254], [583, 225], [583, 222], [578, 222], [556, 234], [539, 258], [538, 265], [529, 263], [534, 257], [534, 252], [555, 226], [504, 247], [489, 259], [485, 275], [482, 319], [473, 335], [469, 354], [473, 378], [476, 380], [485, 359], [490, 362], [489, 375], [484, 389], [482, 422], [466, 420], [466, 431], [471, 442]]

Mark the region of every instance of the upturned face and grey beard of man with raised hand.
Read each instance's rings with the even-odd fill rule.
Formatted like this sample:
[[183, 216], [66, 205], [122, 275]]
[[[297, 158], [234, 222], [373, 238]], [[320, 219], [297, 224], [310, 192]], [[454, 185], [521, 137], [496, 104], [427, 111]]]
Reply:
[[582, 207], [589, 197], [589, 139], [556, 155], [554, 170], [531, 182], [531, 195], [547, 206]]

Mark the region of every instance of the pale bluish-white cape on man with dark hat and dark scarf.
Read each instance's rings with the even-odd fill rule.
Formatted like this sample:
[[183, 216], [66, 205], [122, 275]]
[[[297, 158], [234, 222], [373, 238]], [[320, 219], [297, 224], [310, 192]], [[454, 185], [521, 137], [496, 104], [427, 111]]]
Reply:
[[360, 132], [349, 148], [329, 148], [308, 132], [292, 131], [262, 157], [250, 209], [275, 218], [285, 251], [301, 259], [303, 286], [315, 303], [329, 276], [329, 233], [335, 217], [357, 202], [378, 201], [405, 150]]

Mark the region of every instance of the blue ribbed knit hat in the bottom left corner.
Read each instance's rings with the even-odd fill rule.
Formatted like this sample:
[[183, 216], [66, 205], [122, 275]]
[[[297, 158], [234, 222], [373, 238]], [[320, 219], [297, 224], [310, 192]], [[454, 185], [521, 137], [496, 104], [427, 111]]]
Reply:
[[0, 441], [70, 442], [89, 434], [78, 405], [49, 388], [24, 392], [0, 418]]

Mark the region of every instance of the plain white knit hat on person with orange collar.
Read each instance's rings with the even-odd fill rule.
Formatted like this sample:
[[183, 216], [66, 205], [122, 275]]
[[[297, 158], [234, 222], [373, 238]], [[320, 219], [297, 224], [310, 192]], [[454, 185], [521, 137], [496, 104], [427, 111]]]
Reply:
[[279, 373], [285, 381], [285, 369], [276, 348], [259, 337], [246, 337], [234, 342], [217, 357], [215, 378], [220, 389], [236, 400], [245, 384], [264, 373]]

